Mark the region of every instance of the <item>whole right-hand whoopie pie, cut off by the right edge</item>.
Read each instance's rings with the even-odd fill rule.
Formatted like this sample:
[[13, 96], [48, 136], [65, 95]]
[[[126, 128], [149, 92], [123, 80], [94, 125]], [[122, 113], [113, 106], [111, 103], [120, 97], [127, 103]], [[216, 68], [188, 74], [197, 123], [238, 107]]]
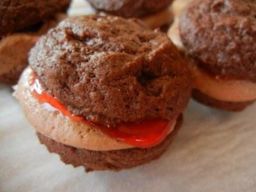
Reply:
[[194, 99], [241, 111], [256, 100], [256, 2], [195, 0], [169, 36], [186, 56]]

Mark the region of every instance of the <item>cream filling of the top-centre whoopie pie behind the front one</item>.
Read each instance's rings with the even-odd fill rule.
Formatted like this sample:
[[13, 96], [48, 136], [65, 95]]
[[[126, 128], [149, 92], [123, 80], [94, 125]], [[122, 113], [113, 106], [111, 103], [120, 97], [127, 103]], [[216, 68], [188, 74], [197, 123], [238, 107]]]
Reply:
[[161, 28], [173, 21], [173, 13], [170, 8], [141, 18], [151, 29]]

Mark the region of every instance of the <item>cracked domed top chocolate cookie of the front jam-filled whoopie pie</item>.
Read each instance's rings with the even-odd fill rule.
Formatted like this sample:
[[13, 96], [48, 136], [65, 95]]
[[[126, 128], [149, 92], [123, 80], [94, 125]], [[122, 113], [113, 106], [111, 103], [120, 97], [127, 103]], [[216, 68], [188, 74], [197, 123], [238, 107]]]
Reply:
[[169, 38], [136, 20], [64, 20], [31, 49], [42, 86], [96, 124], [172, 119], [186, 107], [189, 70]]

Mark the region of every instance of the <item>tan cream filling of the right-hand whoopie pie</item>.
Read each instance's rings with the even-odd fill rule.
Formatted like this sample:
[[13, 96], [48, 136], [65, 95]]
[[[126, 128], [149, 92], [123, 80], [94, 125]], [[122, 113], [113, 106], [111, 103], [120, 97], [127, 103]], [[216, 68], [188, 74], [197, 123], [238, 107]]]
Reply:
[[[180, 40], [179, 19], [168, 30], [168, 36], [180, 51], [185, 51]], [[190, 61], [189, 61], [190, 62]], [[247, 102], [256, 99], [256, 83], [243, 80], [223, 80], [200, 70], [193, 61], [189, 63], [193, 76], [193, 87], [214, 99], [226, 102]]]

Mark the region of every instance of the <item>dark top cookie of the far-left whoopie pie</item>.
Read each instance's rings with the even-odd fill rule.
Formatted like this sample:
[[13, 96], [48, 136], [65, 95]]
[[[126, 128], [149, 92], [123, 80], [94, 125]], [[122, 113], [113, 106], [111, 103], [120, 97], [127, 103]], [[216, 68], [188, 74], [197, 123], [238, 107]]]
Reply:
[[65, 12], [70, 0], [1, 0], [0, 36], [22, 31]]

